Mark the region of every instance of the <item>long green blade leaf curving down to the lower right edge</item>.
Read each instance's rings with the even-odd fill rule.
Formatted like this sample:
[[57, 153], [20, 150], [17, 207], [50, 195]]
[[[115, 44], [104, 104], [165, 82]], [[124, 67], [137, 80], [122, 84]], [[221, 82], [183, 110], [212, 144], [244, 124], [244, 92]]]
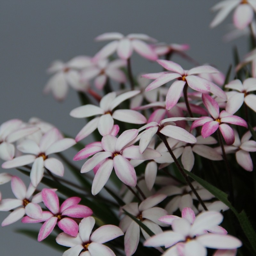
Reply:
[[238, 221], [240, 223], [241, 228], [244, 231], [245, 236], [248, 238], [248, 240], [251, 244], [251, 247], [253, 248], [253, 250], [256, 253], [256, 232], [252, 228], [252, 225], [251, 225], [246, 213], [244, 212], [244, 210], [242, 212], [238, 213], [236, 211], [236, 209], [232, 206], [232, 204], [228, 201], [228, 195], [226, 193], [221, 191], [219, 188], [214, 187], [207, 181], [199, 178], [195, 174], [188, 172], [187, 170], [184, 170], [184, 172], [186, 172], [188, 174], [188, 176], [190, 176], [193, 180], [196, 180], [199, 184], [201, 184], [204, 188], [206, 188], [210, 193], [212, 193], [212, 195], [214, 195], [221, 202], [226, 204], [232, 212], [234, 212], [234, 214], [236, 215], [236, 218], [238, 219]]

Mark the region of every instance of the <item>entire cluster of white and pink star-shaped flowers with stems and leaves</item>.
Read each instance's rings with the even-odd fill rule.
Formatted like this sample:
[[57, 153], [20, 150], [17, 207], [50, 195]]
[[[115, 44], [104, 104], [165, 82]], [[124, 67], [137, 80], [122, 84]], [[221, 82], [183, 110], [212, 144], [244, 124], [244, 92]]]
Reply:
[[[104, 33], [94, 56], [54, 61], [44, 92], [61, 101], [72, 87], [70, 116], [86, 123], [75, 138], [36, 117], [0, 125], [2, 168], [17, 170], [0, 174], [15, 196], [0, 193], [2, 227], [41, 223], [35, 238], [63, 256], [255, 255], [256, 0], [221, 1], [210, 26], [233, 9], [228, 37], [248, 35], [250, 52], [226, 74], [145, 34]], [[136, 74], [134, 52], [159, 69]]]

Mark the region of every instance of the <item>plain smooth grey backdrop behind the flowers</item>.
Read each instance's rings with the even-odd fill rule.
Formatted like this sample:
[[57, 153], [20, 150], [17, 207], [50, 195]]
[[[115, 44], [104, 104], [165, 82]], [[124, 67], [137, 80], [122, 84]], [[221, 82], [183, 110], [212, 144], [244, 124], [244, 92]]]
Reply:
[[[69, 91], [59, 103], [42, 90], [49, 76], [45, 70], [55, 59], [68, 61], [77, 55], [93, 56], [106, 42], [93, 39], [104, 32], [145, 33], [166, 43], [188, 43], [188, 54], [200, 64], [214, 64], [226, 73], [232, 61], [231, 49], [237, 45], [246, 52], [245, 38], [224, 43], [226, 24], [209, 24], [215, 14], [210, 8], [219, 1], [205, 0], [1, 0], [0, 1], [0, 124], [37, 116], [72, 136], [84, 122], [69, 116], [79, 105], [76, 92]], [[173, 59], [184, 68], [192, 65], [180, 57]], [[132, 56], [132, 69], [159, 72], [161, 67]], [[73, 157], [74, 153], [71, 153]], [[10, 171], [15, 174], [15, 171]], [[20, 175], [20, 174], [19, 174]], [[67, 174], [68, 175], [68, 174]], [[2, 185], [3, 197], [13, 197], [10, 184]], [[0, 214], [0, 222], [7, 213]], [[32, 224], [30, 224], [32, 225]], [[42, 243], [13, 232], [20, 222], [0, 228], [1, 255], [61, 255]], [[29, 226], [29, 225], [28, 225]], [[26, 226], [27, 227], [27, 226]], [[25, 227], [25, 228], [26, 228]], [[29, 226], [31, 227], [31, 226]], [[39, 230], [40, 225], [35, 226]]]

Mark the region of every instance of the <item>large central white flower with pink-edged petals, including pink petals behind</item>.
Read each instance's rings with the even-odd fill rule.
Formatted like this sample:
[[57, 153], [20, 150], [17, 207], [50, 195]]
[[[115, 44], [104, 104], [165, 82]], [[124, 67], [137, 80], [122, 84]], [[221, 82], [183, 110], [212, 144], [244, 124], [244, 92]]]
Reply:
[[141, 154], [139, 152], [139, 146], [132, 145], [131, 141], [135, 139], [138, 132], [137, 129], [127, 130], [118, 138], [113, 135], [106, 135], [102, 138], [101, 143], [91, 143], [76, 154], [73, 160], [82, 160], [94, 155], [88, 159], [81, 168], [81, 173], [89, 172], [94, 167], [97, 168], [92, 182], [93, 195], [98, 194], [106, 184], [113, 167], [117, 177], [124, 182], [124, 184], [135, 187], [137, 177], [130, 160], [149, 160], [161, 156], [159, 152], [152, 148], [147, 148], [144, 153]]

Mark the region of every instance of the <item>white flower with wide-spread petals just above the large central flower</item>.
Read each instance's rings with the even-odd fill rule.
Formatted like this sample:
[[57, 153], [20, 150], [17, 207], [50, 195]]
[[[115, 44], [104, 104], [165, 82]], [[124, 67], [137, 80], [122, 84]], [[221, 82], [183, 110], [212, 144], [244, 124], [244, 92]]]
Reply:
[[100, 115], [93, 118], [82, 128], [82, 130], [76, 135], [76, 141], [84, 139], [97, 128], [102, 136], [108, 134], [113, 134], [115, 136], [118, 131], [116, 132], [117, 127], [114, 125], [114, 119], [132, 124], [146, 123], [146, 117], [135, 110], [114, 110], [121, 102], [134, 97], [138, 93], [140, 93], [140, 91], [130, 91], [116, 96], [116, 92], [110, 92], [102, 97], [99, 107], [92, 104], [87, 104], [73, 109], [70, 112], [70, 116], [76, 118]]

